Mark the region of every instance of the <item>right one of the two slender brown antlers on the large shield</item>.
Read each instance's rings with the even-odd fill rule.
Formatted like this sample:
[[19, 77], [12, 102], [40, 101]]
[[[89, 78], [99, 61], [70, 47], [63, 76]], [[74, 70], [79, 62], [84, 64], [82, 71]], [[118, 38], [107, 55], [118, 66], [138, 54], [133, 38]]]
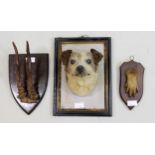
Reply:
[[28, 41], [26, 42], [26, 53], [27, 53], [26, 73], [27, 73], [28, 97], [31, 100], [37, 100], [39, 98], [39, 95], [37, 94], [32, 82], [32, 64], [31, 64], [31, 55]]

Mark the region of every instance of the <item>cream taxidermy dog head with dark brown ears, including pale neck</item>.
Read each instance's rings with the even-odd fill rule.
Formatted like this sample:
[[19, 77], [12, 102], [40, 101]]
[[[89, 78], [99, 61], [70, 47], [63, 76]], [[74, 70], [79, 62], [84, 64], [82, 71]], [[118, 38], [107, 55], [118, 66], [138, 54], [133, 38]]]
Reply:
[[93, 91], [97, 83], [98, 64], [102, 57], [103, 55], [95, 49], [91, 49], [90, 52], [67, 50], [62, 53], [67, 84], [75, 95], [86, 96]]

